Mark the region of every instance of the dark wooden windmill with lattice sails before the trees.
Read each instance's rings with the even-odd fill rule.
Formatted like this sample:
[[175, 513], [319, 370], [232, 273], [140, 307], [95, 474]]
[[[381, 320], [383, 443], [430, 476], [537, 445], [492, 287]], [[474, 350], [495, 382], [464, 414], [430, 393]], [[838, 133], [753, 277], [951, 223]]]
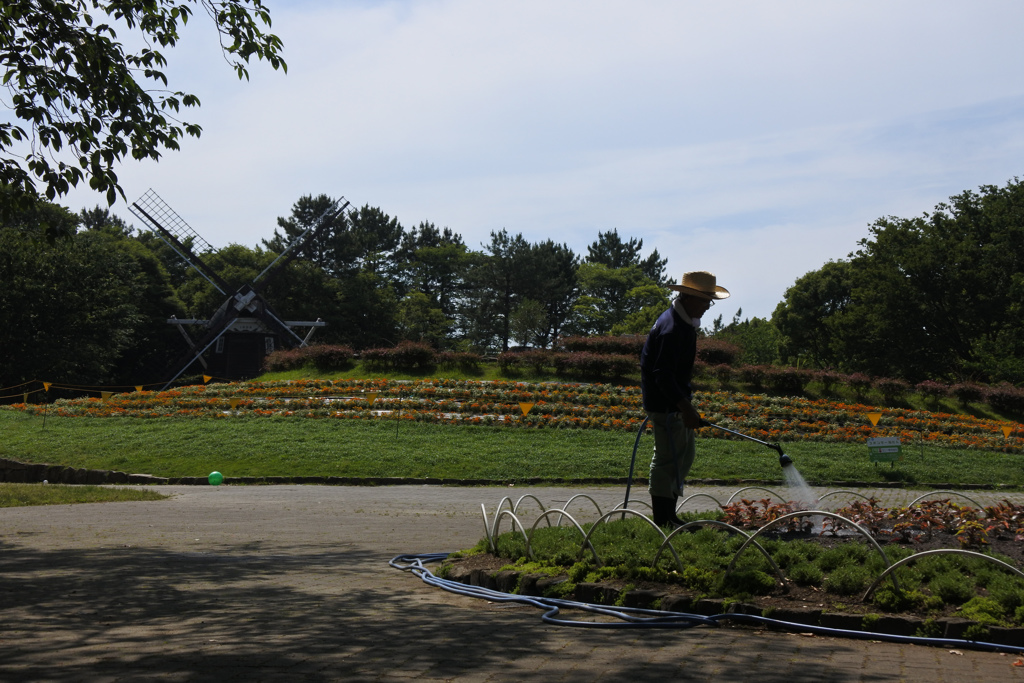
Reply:
[[[316, 328], [327, 325], [316, 321], [283, 321], [263, 298], [262, 291], [298, 252], [316, 238], [332, 220], [349, 206], [342, 198], [335, 201], [316, 221], [292, 243], [251, 282], [234, 289], [197, 255], [213, 251], [188, 223], [150, 189], [129, 210], [153, 229], [178, 256], [195, 268], [225, 300], [208, 321], [178, 319], [168, 323], [178, 330], [188, 343], [185, 351], [171, 367], [167, 389], [193, 364], [199, 362], [206, 373], [227, 379], [249, 379], [260, 374], [264, 356], [279, 347], [306, 346]], [[233, 290], [233, 291], [232, 291]], [[197, 338], [185, 327], [200, 327]], [[308, 328], [305, 337], [293, 328]], [[210, 353], [208, 353], [210, 351]]]

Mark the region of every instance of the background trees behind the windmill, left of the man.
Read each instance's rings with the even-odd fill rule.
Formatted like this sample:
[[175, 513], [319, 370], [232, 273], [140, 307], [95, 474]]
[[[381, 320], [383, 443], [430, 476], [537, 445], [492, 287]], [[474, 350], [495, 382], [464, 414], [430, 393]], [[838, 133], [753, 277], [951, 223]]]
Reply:
[[[198, 256], [231, 287], [250, 283], [334, 199], [300, 198], [260, 246]], [[159, 234], [99, 207], [48, 202], [0, 228], [0, 386], [38, 378], [137, 384], [163, 378], [183, 340], [169, 317], [209, 319], [223, 303]], [[313, 341], [354, 349], [401, 341], [499, 353], [566, 335], [642, 334], [669, 304], [666, 259], [616, 229], [586, 255], [493, 231], [472, 249], [452, 229], [404, 227], [380, 208], [338, 214], [263, 294], [287, 319], [327, 326]]]

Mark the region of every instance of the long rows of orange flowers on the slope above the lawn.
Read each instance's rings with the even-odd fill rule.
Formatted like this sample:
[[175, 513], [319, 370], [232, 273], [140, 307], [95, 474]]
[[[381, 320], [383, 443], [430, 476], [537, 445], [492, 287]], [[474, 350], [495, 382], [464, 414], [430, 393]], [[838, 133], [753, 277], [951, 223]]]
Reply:
[[[966, 415], [729, 391], [697, 392], [695, 399], [711, 422], [769, 441], [862, 442], [869, 436], [898, 436], [907, 442], [1022, 451], [1020, 439], [1009, 439], [1002, 431], [1008, 425], [1018, 431], [1020, 425]], [[638, 429], [646, 417], [635, 386], [472, 380], [241, 382], [11, 408], [62, 417], [400, 419], [627, 431]], [[878, 425], [871, 424], [870, 413], [882, 414]], [[705, 436], [724, 437], [712, 430]]]

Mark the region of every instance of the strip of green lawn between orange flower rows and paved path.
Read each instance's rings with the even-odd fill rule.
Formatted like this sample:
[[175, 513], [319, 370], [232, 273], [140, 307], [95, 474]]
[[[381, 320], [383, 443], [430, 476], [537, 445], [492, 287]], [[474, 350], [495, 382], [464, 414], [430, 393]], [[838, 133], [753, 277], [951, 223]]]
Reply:
[[[493, 479], [625, 477], [635, 433], [414, 422], [237, 419], [45, 419], [0, 411], [0, 458], [156, 476], [439, 477]], [[653, 438], [641, 438], [636, 475], [646, 476]], [[812, 485], [902, 481], [1024, 486], [1015, 455], [904, 444], [895, 468], [868, 462], [859, 443], [783, 443]], [[773, 451], [703, 438], [694, 479], [781, 481]]]

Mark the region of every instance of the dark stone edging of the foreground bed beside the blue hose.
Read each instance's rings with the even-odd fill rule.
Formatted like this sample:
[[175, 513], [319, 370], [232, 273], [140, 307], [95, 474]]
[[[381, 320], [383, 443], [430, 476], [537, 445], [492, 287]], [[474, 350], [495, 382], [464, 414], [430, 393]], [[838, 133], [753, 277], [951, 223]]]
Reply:
[[[511, 569], [492, 572], [488, 569], [470, 569], [460, 567], [458, 562], [450, 565], [445, 579], [467, 586], [479, 586], [502, 593], [515, 593], [532, 597], [545, 597], [556, 585], [566, 581], [564, 578], [554, 578], [545, 573], [523, 573]], [[781, 608], [772, 609], [765, 614], [760, 606], [745, 602], [726, 602], [721, 598], [692, 599], [687, 595], [663, 593], [651, 590], [631, 590], [625, 593], [617, 588], [604, 584], [577, 584], [571, 597], [565, 599], [599, 605], [621, 604], [626, 607], [645, 609], [662, 609], [668, 612], [686, 612], [713, 616], [715, 614], [755, 614], [767, 616], [779, 622], [788, 622], [802, 626], [818, 626], [827, 629], [859, 631], [861, 633], [880, 633], [893, 636], [915, 636], [918, 630], [925, 624], [920, 616], [902, 616], [893, 614], [853, 614], [848, 612], [827, 612], [813, 608]], [[865, 623], [866, 622], [866, 623]], [[975, 623], [967, 618], [946, 617], [934, 621], [942, 629], [942, 638], [964, 640], [964, 633]], [[745, 625], [740, 625], [745, 626]], [[765, 628], [778, 631], [794, 631], [783, 627]], [[997, 645], [1024, 645], [1024, 628], [1008, 629], [1004, 627], [988, 627], [985, 642]]]

